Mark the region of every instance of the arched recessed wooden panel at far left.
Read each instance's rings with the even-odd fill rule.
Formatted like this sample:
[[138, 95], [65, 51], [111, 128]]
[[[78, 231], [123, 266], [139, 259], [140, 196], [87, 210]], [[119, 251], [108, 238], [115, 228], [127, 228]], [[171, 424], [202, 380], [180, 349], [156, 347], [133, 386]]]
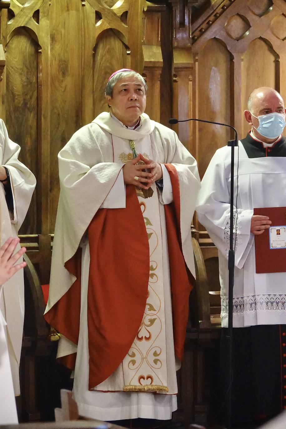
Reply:
[[[37, 78], [38, 44], [24, 27], [10, 40], [6, 51], [6, 94], [3, 102], [10, 138], [21, 146], [20, 160], [37, 176]], [[29, 215], [21, 231], [37, 230], [37, 197], [33, 194]]]

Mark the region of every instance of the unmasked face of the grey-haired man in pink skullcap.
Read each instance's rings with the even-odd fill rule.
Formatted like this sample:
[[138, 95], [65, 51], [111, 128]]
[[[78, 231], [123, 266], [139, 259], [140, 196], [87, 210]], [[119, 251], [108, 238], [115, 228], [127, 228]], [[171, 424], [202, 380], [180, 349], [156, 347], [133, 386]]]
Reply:
[[106, 96], [113, 115], [127, 127], [132, 127], [146, 108], [143, 83], [135, 76], [119, 79], [113, 88], [112, 97]]

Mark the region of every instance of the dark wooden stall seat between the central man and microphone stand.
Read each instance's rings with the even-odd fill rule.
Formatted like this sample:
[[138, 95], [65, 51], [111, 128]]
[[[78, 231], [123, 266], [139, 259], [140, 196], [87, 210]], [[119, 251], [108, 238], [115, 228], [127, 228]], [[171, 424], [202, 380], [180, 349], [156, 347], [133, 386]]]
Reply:
[[[212, 280], [218, 279], [217, 249], [214, 246], [201, 248], [195, 238], [192, 240], [196, 284], [190, 294], [184, 362], [178, 372], [178, 411], [173, 415], [185, 423], [205, 424], [209, 418], [212, 388], [208, 384], [211, 368], [206, 357], [213, 354], [217, 358], [219, 352], [220, 285]], [[205, 260], [208, 270], [213, 270], [213, 275], [209, 271], [207, 275]]]

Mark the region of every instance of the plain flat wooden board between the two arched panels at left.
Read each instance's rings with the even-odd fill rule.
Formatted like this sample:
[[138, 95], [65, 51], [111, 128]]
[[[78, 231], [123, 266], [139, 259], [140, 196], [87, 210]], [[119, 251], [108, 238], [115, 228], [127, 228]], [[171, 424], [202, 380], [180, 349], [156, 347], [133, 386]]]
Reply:
[[77, 0], [61, 0], [51, 2], [49, 13], [51, 228], [59, 196], [57, 154], [81, 127], [81, 8]]

